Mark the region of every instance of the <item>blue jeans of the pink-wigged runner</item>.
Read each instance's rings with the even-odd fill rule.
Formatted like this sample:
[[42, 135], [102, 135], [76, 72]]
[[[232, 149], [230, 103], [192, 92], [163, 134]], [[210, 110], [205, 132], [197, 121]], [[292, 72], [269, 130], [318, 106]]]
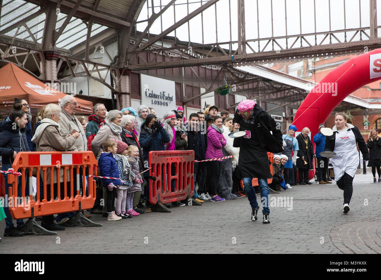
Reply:
[[[247, 198], [250, 202], [251, 208], [257, 208], [258, 207], [258, 202], [257, 202], [257, 197], [255, 194], [254, 187], [251, 183], [251, 180], [253, 178], [243, 178], [243, 186], [245, 186], [245, 192], [247, 194]], [[269, 186], [267, 186], [267, 179], [258, 179], [258, 184], [259, 184], [259, 190], [261, 190], [261, 204], [263, 207], [262, 213], [263, 214], [270, 214], [270, 191], [269, 191]]]

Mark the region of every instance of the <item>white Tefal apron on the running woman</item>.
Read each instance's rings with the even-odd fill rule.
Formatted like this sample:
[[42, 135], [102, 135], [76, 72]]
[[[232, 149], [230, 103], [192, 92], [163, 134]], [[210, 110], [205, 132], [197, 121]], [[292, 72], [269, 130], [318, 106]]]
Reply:
[[335, 172], [335, 181], [337, 182], [346, 172], [351, 177], [356, 174], [357, 166], [360, 163], [359, 152], [357, 151], [356, 138], [352, 130], [345, 128], [338, 130], [335, 139], [336, 155], [330, 158], [330, 162]]

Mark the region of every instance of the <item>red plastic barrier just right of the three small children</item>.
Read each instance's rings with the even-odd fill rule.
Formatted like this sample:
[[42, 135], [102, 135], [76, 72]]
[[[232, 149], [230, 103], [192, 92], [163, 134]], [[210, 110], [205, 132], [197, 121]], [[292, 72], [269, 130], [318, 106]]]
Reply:
[[[184, 200], [194, 195], [194, 151], [151, 151], [148, 163], [149, 175], [156, 180], [149, 180], [149, 201], [168, 203]], [[176, 169], [171, 174], [172, 168]], [[171, 192], [171, 180], [175, 181], [174, 192]]]

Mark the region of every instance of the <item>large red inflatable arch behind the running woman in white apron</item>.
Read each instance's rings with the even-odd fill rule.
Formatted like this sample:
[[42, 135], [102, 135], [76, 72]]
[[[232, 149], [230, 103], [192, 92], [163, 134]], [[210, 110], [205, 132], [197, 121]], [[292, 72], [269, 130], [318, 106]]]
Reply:
[[[349, 94], [381, 79], [381, 49], [360, 54], [328, 73], [307, 95], [296, 112], [298, 131], [311, 130], [311, 140], [336, 106]], [[314, 145], [315, 146], [315, 145]]]

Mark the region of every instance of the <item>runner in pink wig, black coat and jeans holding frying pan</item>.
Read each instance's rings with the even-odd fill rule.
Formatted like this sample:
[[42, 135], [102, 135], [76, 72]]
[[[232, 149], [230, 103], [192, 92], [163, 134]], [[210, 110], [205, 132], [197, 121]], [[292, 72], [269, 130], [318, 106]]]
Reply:
[[[240, 147], [239, 162], [240, 177], [245, 186], [245, 192], [251, 205], [251, 220], [258, 219], [259, 205], [255, 190], [251, 184], [253, 177], [258, 178], [263, 205], [263, 223], [270, 223], [269, 186], [267, 179], [272, 178], [270, 162], [266, 152], [278, 153], [283, 151], [282, 132], [280, 124], [276, 123], [253, 100], [243, 100], [239, 103], [234, 114], [233, 123], [238, 123], [240, 131], [245, 131], [242, 138], [234, 139], [234, 147]], [[272, 134], [271, 134], [272, 132]]]

